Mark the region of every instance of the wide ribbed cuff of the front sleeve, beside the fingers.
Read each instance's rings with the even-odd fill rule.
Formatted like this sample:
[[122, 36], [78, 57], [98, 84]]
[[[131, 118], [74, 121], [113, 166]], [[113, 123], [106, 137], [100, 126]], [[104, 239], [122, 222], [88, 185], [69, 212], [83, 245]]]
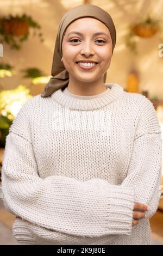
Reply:
[[109, 189], [106, 229], [109, 234], [130, 235], [133, 222], [133, 188], [113, 186]]

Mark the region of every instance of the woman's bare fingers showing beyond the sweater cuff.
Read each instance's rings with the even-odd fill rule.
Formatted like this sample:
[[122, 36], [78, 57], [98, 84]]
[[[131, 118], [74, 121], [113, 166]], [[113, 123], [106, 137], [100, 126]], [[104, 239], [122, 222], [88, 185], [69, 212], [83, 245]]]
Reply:
[[139, 223], [140, 218], [145, 218], [145, 211], [148, 211], [148, 205], [135, 202], [133, 210], [133, 226]]

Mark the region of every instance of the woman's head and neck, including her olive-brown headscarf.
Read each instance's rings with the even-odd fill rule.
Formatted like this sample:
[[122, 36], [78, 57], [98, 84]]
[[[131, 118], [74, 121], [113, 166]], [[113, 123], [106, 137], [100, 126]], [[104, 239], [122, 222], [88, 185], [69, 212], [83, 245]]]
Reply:
[[[106, 11], [92, 4], [79, 5], [67, 11], [60, 21], [55, 42], [53, 77], [41, 97], [65, 87], [77, 95], [104, 92], [106, 72], [115, 44], [116, 29]], [[91, 62], [97, 65], [91, 66]]]

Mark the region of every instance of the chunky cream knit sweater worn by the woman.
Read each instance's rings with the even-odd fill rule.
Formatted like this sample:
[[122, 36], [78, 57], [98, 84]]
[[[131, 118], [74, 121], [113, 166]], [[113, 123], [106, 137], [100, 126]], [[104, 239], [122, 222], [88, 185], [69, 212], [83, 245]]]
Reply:
[[[2, 168], [5, 207], [24, 245], [150, 245], [161, 129], [152, 102], [116, 83], [93, 96], [58, 89], [17, 114]], [[134, 202], [149, 205], [132, 227]]]

